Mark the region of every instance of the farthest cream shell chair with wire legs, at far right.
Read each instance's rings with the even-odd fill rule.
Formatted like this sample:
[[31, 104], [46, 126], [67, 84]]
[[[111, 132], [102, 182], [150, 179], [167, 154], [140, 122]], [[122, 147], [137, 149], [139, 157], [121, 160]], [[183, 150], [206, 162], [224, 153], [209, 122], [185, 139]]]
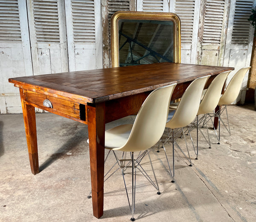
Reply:
[[[227, 115], [227, 124], [228, 124], [228, 128], [227, 128], [227, 126], [224, 124], [223, 120], [221, 119], [221, 114], [224, 110], [226, 110], [226, 114], [227, 114], [227, 105], [234, 102], [236, 100], [236, 98], [238, 97], [241, 85], [243, 83], [244, 76], [250, 68], [251, 68], [250, 66], [244, 67], [244, 68], [239, 69], [239, 71], [236, 72], [236, 74], [230, 80], [230, 83], [228, 84], [226, 90], [224, 91], [224, 94], [221, 96], [221, 98], [218, 102], [219, 111], [218, 111], [218, 113], [216, 113], [218, 115], [218, 128], [219, 128], [218, 144], [220, 144], [220, 129], [221, 129], [220, 123], [221, 122], [223, 123], [223, 125], [225, 126], [225, 128], [227, 129], [227, 131], [230, 134], [228, 115]], [[221, 109], [221, 106], [223, 106], [223, 105], [224, 105], [224, 108]]]

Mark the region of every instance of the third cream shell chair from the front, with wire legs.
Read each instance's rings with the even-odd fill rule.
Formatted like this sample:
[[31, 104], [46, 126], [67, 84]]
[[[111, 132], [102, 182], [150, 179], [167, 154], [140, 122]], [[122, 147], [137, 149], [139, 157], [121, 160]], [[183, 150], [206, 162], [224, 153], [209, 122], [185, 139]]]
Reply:
[[[198, 113], [197, 113], [197, 118], [196, 118], [195, 122], [193, 122], [193, 125], [197, 128], [197, 145], [196, 145], [196, 151], [195, 151], [195, 154], [196, 154], [195, 159], [198, 159], [198, 126], [202, 122], [203, 122], [203, 124], [206, 124], [208, 140], [204, 136], [204, 134], [200, 128], [199, 128], [199, 131], [203, 135], [204, 139], [208, 142], [209, 148], [211, 148], [211, 142], [210, 142], [208, 127], [207, 127], [207, 121], [208, 121], [207, 114], [212, 113], [212, 111], [218, 105], [223, 85], [225, 83], [225, 80], [227, 79], [227, 75], [230, 72], [231, 71], [225, 71], [225, 72], [218, 74], [218, 76], [216, 76], [214, 78], [214, 80], [212, 80], [212, 83], [207, 88], [207, 91], [204, 94], [203, 99], [201, 100], [201, 103], [200, 103], [199, 109], [198, 109]], [[198, 120], [198, 115], [200, 115], [200, 114], [203, 114], [203, 116]], [[210, 120], [212, 120], [212, 119], [210, 118]], [[212, 124], [213, 124], [213, 122], [212, 122]]]

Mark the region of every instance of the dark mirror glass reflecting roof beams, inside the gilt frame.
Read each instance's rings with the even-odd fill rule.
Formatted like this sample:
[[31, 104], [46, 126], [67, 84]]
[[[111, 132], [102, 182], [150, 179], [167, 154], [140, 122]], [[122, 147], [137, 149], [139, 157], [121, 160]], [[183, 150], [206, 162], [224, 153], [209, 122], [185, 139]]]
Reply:
[[173, 62], [173, 22], [119, 20], [119, 66]]

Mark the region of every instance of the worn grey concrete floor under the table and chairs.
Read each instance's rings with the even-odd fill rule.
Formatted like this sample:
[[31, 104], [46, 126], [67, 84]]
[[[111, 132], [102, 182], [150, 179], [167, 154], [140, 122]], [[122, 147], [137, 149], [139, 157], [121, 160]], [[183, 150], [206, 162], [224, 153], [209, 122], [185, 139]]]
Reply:
[[[163, 150], [157, 153], [155, 147], [151, 159], [162, 194], [137, 174], [137, 221], [256, 221], [256, 111], [247, 105], [229, 106], [228, 112], [231, 137], [223, 129], [217, 145], [211, 131], [212, 149], [200, 137], [199, 159], [192, 160], [192, 167], [175, 152], [175, 183], [170, 182]], [[34, 176], [22, 114], [0, 115], [0, 221], [130, 221], [120, 173], [105, 182], [104, 215], [100, 220], [93, 217], [87, 199], [87, 125], [50, 113], [36, 118], [41, 172]], [[133, 120], [127, 117], [106, 128]], [[179, 139], [182, 147], [183, 141]], [[171, 146], [166, 149], [171, 157]], [[105, 169], [113, 161], [111, 155]], [[147, 158], [143, 166], [149, 167]], [[130, 174], [126, 177], [131, 187]]]

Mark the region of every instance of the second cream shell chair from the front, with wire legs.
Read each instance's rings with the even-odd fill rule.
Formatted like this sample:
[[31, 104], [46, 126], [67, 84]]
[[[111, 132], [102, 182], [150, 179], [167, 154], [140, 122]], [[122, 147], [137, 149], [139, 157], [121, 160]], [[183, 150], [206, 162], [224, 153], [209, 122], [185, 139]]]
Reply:
[[[186, 88], [186, 91], [183, 93], [183, 96], [180, 99], [177, 109], [176, 110], [169, 109], [169, 115], [168, 115], [168, 119], [166, 122], [166, 128], [170, 128], [172, 132], [171, 132], [171, 135], [170, 135], [170, 132], [168, 132], [168, 137], [164, 141], [162, 138], [162, 142], [163, 142], [163, 149], [166, 154], [166, 149], [164, 147], [164, 144], [166, 142], [169, 142], [169, 139], [172, 140], [172, 171], [171, 171], [169, 161], [168, 161], [168, 158], [166, 155], [166, 159], [167, 159], [167, 162], [169, 165], [170, 174], [172, 176], [172, 182], [174, 182], [174, 176], [175, 176], [174, 144], [177, 145], [177, 147], [180, 149], [180, 151], [182, 151], [180, 146], [175, 141], [175, 136], [174, 136], [175, 131], [174, 130], [177, 128], [181, 128], [181, 131], [183, 133], [183, 136], [184, 136], [184, 139], [186, 142], [183, 127], [186, 127], [193, 120], [195, 120], [196, 114], [198, 113], [198, 108], [199, 108], [199, 104], [200, 104], [200, 100], [201, 100], [202, 91], [203, 91], [204, 85], [207, 82], [209, 77], [210, 76], [199, 77], [196, 80], [194, 80], [189, 85], [189, 87]], [[186, 154], [183, 151], [182, 151], [182, 153], [184, 154], [186, 159], [189, 160], [190, 166], [192, 166], [187, 143], [186, 143], [186, 148], [187, 148], [187, 152], [188, 152], [188, 157], [186, 156]]]

